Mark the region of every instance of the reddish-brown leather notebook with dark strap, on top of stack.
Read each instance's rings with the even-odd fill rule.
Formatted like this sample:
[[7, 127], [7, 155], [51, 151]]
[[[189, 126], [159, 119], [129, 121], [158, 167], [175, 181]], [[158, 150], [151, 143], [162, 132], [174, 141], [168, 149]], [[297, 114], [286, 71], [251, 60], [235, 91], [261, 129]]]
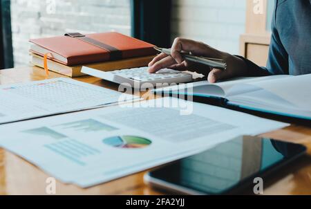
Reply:
[[70, 33], [30, 39], [30, 51], [68, 66], [155, 55], [153, 45], [120, 33]]

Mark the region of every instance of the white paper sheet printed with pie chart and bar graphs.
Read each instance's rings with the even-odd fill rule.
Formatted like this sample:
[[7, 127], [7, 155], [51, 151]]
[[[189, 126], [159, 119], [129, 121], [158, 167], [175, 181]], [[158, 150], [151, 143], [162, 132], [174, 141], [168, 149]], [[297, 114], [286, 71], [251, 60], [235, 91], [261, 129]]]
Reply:
[[288, 126], [176, 98], [131, 105], [2, 125], [0, 145], [60, 181], [87, 188], [196, 154], [236, 136]]

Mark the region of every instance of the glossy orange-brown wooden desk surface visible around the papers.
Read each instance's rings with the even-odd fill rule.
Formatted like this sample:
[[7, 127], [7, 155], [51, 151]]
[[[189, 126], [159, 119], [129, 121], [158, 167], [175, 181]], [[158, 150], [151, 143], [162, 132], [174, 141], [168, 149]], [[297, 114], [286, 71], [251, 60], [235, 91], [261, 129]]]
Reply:
[[[48, 78], [57, 77], [62, 77], [62, 75], [50, 73]], [[45, 78], [43, 70], [32, 66], [0, 71], [0, 84], [44, 80]], [[117, 85], [98, 78], [86, 76], [77, 78], [77, 80], [117, 89]], [[302, 143], [308, 146], [308, 153], [311, 154], [311, 129], [308, 127], [292, 125], [262, 136]], [[57, 181], [56, 192], [57, 194], [162, 194], [144, 185], [143, 175], [144, 172], [140, 172], [88, 189]], [[0, 194], [46, 194], [48, 177], [47, 174], [22, 158], [0, 149]], [[265, 194], [311, 194], [311, 158], [304, 157], [294, 165], [279, 171], [274, 179], [264, 184], [264, 187]]]

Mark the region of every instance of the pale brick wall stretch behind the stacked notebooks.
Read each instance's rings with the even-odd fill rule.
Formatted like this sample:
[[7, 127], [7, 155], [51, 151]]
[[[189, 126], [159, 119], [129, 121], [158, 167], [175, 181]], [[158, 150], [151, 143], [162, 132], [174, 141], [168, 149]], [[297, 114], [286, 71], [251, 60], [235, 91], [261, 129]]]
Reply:
[[78, 31], [130, 34], [129, 0], [11, 0], [15, 66], [29, 63], [28, 39]]

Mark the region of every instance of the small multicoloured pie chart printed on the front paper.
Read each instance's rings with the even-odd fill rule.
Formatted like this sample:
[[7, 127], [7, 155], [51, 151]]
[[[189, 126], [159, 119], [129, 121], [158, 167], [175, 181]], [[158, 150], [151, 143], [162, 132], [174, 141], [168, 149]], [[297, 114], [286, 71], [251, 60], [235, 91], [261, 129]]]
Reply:
[[124, 149], [144, 148], [151, 145], [151, 140], [138, 136], [113, 136], [105, 138], [103, 143], [111, 147]]

